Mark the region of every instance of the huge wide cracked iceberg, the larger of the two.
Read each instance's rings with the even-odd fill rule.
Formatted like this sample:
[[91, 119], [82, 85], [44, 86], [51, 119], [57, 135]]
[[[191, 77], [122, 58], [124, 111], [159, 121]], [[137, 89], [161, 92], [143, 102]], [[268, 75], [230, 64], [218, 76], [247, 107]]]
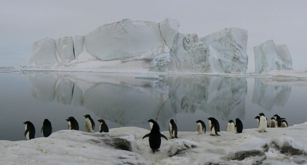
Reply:
[[81, 63], [96, 61], [86, 66], [102, 72], [129, 66], [147, 72], [246, 72], [246, 30], [228, 28], [200, 38], [179, 33], [179, 26], [169, 18], [159, 23], [123, 19], [85, 36], [44, 38], [33, 44], [29, 64], [84, 68]]

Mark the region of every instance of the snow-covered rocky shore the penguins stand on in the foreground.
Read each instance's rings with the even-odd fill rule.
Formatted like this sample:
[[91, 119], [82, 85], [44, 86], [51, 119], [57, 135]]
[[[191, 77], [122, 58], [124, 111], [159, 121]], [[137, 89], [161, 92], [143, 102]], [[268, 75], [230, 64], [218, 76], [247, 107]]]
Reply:
[[[256, 124], [255, 124], [256, 125]], [[148, 125], [149, 127], [149, 125]], [[288, 128], [179, 132], [178, 139], [162, 139], [152, 154], [149, 130], [137, 127], [110, 129], [109, 133], [74, 130], [50, 137], [11, 142], [0, 140], [2, 164], [303, 164], [307, 163], [307, 122]], [[167, 131], [162, 132], [169, 137]]]

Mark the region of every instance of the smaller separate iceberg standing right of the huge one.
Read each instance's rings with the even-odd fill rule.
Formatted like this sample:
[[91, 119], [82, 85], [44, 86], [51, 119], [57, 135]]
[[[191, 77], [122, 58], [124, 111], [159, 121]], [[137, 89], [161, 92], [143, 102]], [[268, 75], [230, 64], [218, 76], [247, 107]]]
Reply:
[[285, 44], [268, 40], [254, 47], [255, 73], [268, 70], [293, 70], [290, 52]]

